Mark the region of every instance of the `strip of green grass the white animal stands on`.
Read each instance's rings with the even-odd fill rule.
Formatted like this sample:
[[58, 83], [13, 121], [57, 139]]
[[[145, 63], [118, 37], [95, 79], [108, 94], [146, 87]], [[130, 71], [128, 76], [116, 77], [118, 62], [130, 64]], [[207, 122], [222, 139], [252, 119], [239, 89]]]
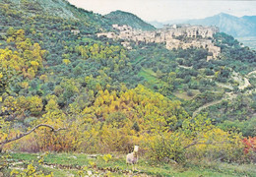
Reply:
[[[43, 157], [42, 157], [43, 156]], [[42, 163], [38, 163], [43, 158]], [[89, 155], [84, 153], [11, 153], [10, 167], [3, 171], [10, 176], [12, 170], [22, 171], [28, 164], [36, 170], [53, 176], [256, 176], [255, 164], [228, 164], [223, 162], [187, 162], [178, 164], [153, 164], [140, 159], [136, 171], [127, 166], [124, 156]], [[42, 161], [42, 160], [41, 160]]]

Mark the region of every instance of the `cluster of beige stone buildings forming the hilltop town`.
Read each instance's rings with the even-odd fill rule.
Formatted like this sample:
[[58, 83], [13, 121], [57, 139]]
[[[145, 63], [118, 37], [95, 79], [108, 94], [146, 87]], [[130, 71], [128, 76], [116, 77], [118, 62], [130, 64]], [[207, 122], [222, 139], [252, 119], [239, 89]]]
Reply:
[[216, 27], [172, 25], [164, 26], [164, 28], [154, 31], [132, 29], [126, 25], [112, 25], [112, 28], [115, 31], [99, 32], [97, 36], [124, 39], [125, 41], [122, 42], [122, 45], [128, 49], [132, 49], [129, 41], [164, 43], [169, 50], [174, 48], [202, 47], [212, 53], [212, 55], [207, 57], [208, 60], [217, 58], [221, 53], [221, 48], [213, 43], [214, 34], [219, 31]]

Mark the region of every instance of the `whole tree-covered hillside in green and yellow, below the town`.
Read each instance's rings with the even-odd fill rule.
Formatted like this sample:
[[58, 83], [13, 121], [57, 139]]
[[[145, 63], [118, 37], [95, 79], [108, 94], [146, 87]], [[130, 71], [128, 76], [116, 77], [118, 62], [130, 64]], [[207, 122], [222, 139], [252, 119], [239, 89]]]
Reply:
[[110, 19], [64, 0], [0, 7], [0, 176], [255, 173], [256, 51], [224, 32], [172, 38], [210, 58], [108, 38]]

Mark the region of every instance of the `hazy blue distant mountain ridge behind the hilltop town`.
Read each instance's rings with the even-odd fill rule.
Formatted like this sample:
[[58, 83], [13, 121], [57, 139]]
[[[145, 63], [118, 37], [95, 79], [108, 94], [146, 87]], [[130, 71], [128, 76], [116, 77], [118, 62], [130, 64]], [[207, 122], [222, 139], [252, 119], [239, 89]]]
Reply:
[[[156, 24], [156, 22], [154, 23]], [[162, 24], [216, 26], [221, 31], [233, 36], [256, 36], [256, 16], [243, 16], [238, 18], [221, 13], [205, 19], [167, 21]]]

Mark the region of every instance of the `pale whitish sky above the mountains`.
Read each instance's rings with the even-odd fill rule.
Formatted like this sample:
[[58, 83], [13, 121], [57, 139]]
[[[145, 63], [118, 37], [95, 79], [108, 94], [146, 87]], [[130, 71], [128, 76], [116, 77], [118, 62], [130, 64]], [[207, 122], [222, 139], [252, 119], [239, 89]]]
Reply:
[[256, 15], [256, 1], [214, 0], [68, 0], [77, 7], [105, 15], [130, 12], [144, 21], [203, 19], [220, 13], [237, 17]]

